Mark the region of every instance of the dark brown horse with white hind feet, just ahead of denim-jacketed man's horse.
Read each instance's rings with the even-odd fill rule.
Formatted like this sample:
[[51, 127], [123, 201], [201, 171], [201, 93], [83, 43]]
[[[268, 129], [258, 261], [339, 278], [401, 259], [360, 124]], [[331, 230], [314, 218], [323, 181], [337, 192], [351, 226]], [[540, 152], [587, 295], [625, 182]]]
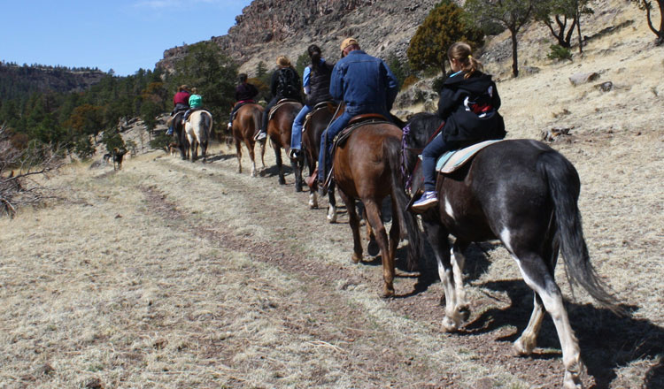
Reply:
[[[313, 111], [305, 122], [305, 131], [302, 134], [302, 149], [305, 155], [306, 164], [309, 167], [309, 175], [313, 175], [316, 171], [316, 164], [318, 164], [318, 155], [320, 151], [320, 135], [328, 128], [329, 123], [335, 116], [336, 105], [330, 102], [317, 104], [313, 107]], [[299, 176], [302, 176], [302, 169], [298, 171]], [[314, 181], [312, 187], [309, 188], [309, 208], [318, 208], [318, 181]], [[330, 223], [336, 222], [336, 198], [335, 187], [330, 185], [328, 187], [328, 221]]]

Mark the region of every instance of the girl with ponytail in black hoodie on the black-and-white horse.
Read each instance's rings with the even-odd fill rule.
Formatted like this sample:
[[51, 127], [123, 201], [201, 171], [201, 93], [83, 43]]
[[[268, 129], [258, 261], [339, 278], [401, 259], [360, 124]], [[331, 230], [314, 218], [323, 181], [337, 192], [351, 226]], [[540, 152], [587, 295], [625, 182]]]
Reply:
[[506, 135], [496, 83], [480, 71], [482, 63], [473, 57], [470, 46], [456, 42], [447, 57], [454, 73], [444, 81], [438, 101], [438, 115], [445, 124], [422, 151], [424, 194], [413, 203], [413, 210], [428, 210], [438, 203], [436, 160], [445, 151], [460, 149], [461, 142], [467, 146]]

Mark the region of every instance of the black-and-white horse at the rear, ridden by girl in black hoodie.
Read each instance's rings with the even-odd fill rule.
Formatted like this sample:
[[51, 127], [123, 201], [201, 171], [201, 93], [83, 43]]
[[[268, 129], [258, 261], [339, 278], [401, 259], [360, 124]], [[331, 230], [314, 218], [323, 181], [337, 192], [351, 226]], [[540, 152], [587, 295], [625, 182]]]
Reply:
[[[421, 169], [415, 168], [417, 155], [441, 126], [436, 114], [421, 113], [405, 127], [402, 163], [406, 173], [414, 170], [413, 182], [421, 181]], [[573, 285], [583, 286], [606, 308], [624, 313], [591, 265], [577, 205], [580, 187], [574, 165], [544, 143], [498, 141], [477, 152], [460, 170], [439, 173], [439, 203], [421, 214], [444, 286], [444, 331], [458, 331], [462, 311], [467, 309], [462, 285], [464, 250], [471, 242], [500, 240], [534, 292], [529, 324], [513, 347], [519, 355], [533, 352], [546, 309], [560, 339], [566, 388], [581, 387], [583, 362], [554, 280], [559, 250]], [[449, 235], [456, 238], [452, 252]]]

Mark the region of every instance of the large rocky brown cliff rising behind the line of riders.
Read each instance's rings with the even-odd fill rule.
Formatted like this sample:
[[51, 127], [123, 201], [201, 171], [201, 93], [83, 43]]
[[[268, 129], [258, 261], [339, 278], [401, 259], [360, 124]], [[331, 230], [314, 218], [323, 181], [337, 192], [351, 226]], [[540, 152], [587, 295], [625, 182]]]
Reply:
[[[295, 61], [318, 44], [332, 61], [348, 36], [363, 50], [387, 58], [405, 56], [411, 37], [439, 0], [254, 0], [235, 18], [228, 34], [212, 38], [251, 74], [260, 61], [272, 67], [279, 55]], [[187, 46], [164, 52], [157, 66], [170, 69]]]

